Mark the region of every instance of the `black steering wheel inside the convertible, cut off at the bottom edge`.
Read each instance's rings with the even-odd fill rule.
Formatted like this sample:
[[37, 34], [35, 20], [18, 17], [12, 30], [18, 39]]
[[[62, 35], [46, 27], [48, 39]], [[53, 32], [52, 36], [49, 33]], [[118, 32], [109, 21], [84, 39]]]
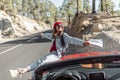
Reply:
[[46, 78], [46, 80], [88, 80], [87, 76], [75, 70], [62, 70]]

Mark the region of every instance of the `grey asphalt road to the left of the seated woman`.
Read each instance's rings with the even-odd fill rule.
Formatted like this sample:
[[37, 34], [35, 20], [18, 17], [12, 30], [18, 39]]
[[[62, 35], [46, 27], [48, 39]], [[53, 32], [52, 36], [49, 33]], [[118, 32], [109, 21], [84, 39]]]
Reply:
[[13, 79], [9, 69], [16, 69], [34, 63], [49, 50], [51, 42], [32, 36], [0, 44], [0, 80], [27, 80], [32, 72], [25, 73], [22, 78]]

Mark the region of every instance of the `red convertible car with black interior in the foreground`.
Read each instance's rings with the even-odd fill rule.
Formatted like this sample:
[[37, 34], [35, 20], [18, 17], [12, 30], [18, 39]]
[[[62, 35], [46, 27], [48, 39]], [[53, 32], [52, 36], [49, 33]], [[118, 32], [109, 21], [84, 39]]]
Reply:
[[44, 64], [33, 80], [120, 80], [120, 52], [71, 54]]

